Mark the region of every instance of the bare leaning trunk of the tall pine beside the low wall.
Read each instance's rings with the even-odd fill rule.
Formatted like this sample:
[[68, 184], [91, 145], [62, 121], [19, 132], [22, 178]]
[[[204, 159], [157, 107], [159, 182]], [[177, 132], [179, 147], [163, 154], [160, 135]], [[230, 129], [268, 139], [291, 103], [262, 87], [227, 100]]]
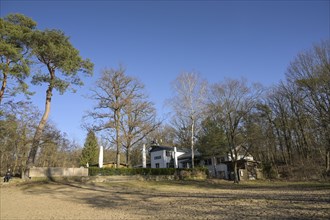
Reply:
[[52, 90], [53, 87], [50, 84], [48, 86], [48, 89], [46, 91], [46, 104], [45, 104], [45, 112], [41, 118], [41, 121], [37, 127], [36, 133], [34, 134], [33, 137], [33, 141], [32, 141], [32, 146], [31, 146], [31, 150], [28, 156], [28, 160], [26, 162], [26, 169], [25, 169], [25, 177], [29, 176], [29, 169], [35, 164], [35, 159], [36, 159], [36, 155], [38, 152], [38, 148], [39, 148], [39, 142], [43, 133], [43, 130], [45, 128], [48, 116], [49, 116], [49, 112], [50, 112], [50, 104], [51, 104], [51, 99], [52, 99]]

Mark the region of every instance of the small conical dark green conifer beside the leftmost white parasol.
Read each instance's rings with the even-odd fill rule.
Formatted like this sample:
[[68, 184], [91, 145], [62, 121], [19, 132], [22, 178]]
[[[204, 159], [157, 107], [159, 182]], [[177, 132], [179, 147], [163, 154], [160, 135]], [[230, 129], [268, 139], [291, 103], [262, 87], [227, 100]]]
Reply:
[[98, 143], [94, 131], [89, 131], [80, 157], [80, 164], [96, 164], [98, 161]]

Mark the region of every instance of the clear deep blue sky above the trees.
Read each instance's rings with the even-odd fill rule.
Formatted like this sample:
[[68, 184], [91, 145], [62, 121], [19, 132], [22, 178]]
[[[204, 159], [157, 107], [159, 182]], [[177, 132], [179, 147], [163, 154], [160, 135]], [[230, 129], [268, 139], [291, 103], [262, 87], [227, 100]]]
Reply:
[[[196, 71], [209, 82], [245, 77], [265, 86], [284, 79], [290, 61], [329, 39], [330, 1], [29, 1], [1, 0], [1, 17], [22, 13], [39, 29], [70, 36], [94, 77], [75, 94], [54, 94], [50, 119], [83, 144], [82, 115], [93, 106], [83, 97], [102, 69], [127, 68], [145, 85], [159, 116], [171, 82]], [[46, 87], [33, 88], [43, 111]]]

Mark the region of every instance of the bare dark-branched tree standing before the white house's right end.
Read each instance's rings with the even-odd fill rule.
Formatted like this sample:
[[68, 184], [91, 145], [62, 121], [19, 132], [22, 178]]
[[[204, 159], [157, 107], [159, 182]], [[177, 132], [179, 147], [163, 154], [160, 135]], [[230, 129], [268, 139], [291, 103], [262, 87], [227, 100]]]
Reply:
[[212, 118], [223, 128], [228, 151], [233, 162], [235, 183], [239, 182], [237, 173], [238, 146], [242, 144], [243, 119], [256, 106], [261, 95], [258, 85], [248, 86], [245, 80], [227, 79], [212, 86], [210, 110]]

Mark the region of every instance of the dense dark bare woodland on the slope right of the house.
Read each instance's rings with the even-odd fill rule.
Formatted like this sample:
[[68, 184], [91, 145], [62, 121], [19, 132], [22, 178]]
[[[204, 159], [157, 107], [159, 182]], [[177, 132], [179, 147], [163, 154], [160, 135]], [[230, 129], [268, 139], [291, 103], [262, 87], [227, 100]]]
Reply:
[[326, 41], [298, 54], [286, 80], [257, 106], [255, 121], [268, 140], [263, 143], [266, 149], [257, 149], [260, 160], [283, 175], [329, 174], [329, 107], [330, 42]]

